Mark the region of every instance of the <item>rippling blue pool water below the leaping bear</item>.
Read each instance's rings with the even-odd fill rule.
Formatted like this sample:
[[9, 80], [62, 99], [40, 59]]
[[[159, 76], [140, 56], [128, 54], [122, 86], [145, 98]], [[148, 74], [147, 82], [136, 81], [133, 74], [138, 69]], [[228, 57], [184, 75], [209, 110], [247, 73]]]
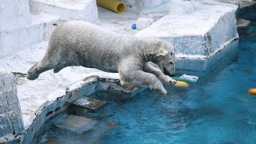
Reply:
[[238, 57], [189, 88], [166, 86], [167, 95], [145, 90], [130, 99], [106, 98], [96, 113], [71, 110], [97, 124], [82, 134], [50, 126], [36, 143], [255, 143], [256, 6], [239, 28]]

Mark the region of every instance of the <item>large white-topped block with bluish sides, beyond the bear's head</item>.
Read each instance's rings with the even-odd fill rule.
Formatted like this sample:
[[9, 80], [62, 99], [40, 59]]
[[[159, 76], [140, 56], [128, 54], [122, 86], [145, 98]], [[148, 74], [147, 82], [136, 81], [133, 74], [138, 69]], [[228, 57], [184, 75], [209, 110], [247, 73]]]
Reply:
[[[205, 71], [233, 50], [228, 46], [238, 38], [237, 9], [237, 5], [219, 2], [194, 3], [191, 14], [166, 15], [135, 36], [172, 43], [178, 70]], [[214, 58], [216, 54], [218, 58]], [[211, 58], [214, 62], [209, 62]]]

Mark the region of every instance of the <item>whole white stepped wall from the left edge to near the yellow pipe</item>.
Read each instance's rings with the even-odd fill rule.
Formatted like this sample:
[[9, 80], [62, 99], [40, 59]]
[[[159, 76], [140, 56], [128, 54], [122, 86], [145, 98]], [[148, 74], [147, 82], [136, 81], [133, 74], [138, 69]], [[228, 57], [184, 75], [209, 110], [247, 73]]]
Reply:
[[53, 23], [74, 19], [97, 23], [96, 1], [1, 0], [0, 56], [48, 40]]

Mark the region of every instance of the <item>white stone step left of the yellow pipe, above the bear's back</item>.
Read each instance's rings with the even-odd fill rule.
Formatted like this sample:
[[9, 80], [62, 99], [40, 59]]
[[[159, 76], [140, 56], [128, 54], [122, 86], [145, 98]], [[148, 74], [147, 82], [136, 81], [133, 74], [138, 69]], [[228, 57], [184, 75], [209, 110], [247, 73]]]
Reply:
[[57, 15], [62, 21], [98, 22], [95, 0], [30, 0], [30, 10], [33, 13]]

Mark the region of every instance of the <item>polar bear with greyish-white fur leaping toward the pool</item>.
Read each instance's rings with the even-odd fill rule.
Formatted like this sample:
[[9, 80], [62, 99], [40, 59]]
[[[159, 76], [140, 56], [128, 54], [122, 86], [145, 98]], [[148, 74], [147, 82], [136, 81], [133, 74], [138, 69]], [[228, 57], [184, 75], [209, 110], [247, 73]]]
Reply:
[[176, 83], [166, 75], [175, 74], [175, 62], [174, 49], [164, 40], [116, 34], [89, 22], [70, 21], [54, 30], [46, 54], [28, 70], [27, 78], [34, 80], [46, 70], [58, 73], [66, 66], [85, 66], [118, 72], [126, 88], [149, 86], [166, 94], [162, 82]]

